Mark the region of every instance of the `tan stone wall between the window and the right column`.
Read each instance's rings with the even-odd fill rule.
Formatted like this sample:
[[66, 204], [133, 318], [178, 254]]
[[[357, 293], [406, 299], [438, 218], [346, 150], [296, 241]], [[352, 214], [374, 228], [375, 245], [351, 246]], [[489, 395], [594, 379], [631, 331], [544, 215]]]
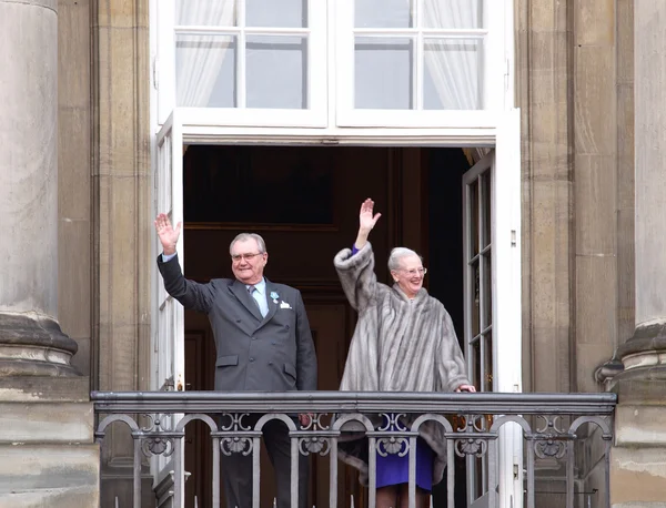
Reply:
[[525, 390], [601, 389], [633, 332], [632, 12], [516, 2]]

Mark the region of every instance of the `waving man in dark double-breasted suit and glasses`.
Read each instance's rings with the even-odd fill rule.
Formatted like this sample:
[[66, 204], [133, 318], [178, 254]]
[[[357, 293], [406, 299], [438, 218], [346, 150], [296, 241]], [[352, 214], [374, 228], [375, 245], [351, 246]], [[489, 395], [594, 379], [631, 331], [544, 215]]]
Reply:
[[[181, 224], [165, 214], [155, 219], [163, 253], [158, 266], [167, 292], [185, 308], [208, 314], [215, 339], [215, 390], [289, 392], [316, 389], [316, 357], [301, 293], [263, 276], [269, 261], [263, 238], [242, 233], [230, 245], [234, 280], [208, 284], [186, 280], [175, 254]], [[309, 416], [300, 415], [307, 425]], [[245, 417], [254, 425], [258, 416]], [[226, 426], [223, 421], [222, 425]], [[291, 441], [286, 425], [264, 426], [264, 443], [275, 469], [278, 506], [290, 507]], [[307, 505], [307, 461], [300, 457], [299, 506]], [[222, 459], [229, 508], [252, 506], [252, 457], [231, 454]]]

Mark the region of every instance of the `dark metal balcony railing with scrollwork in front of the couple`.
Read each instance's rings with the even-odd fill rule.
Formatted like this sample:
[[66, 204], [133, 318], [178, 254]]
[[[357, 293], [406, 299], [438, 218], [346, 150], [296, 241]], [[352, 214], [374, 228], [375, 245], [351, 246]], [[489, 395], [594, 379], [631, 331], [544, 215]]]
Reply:
[[[351, 443], [350, 437], [352, 441], [360, 439], [360, 449], [372, 458], [367, 460], [369, 467], [376, 464], [379, 457], [406, 457], [410, 496], [415, 496], [416, 491], [416, 460], [412, 453], [421, 437], [431, 439], [430, 444], [436, 439], [435, 461], [438, 460], [441, 471], [444, 470], [447, 485], [446, 501], [437, 501], [442, 506], [454, 506], [455, 488], [460, 487], [456, 460], [462, 458], [460, 464], [467, 465], [467, 475], [481, 478], [467, 485], [485, 489], [487, 506], [500, 506], [500, 478], [513, 475], [522, 481], [516, 482], [523, 487], [517, 495], [524, 495], [525, 508], [534, 508], [538, 481], [535, 470], [549, 467], [553, 471], [564, 471], [566, 506], [573, 508], [574, 492], [579, 492], [585, 475], [589, 473], [581, 470], [581, 465], [589, 463], [605, 467], [607, 481], [616, 404], [613, 394], [154, 392], [93, 393], [91, 398], [95, 413], [104, 415], [95, 431], [102, 446], [109, 426], [129, 428], [134, 444], [137, 508], [142, 499], [141, 480], [148, 471], [142, 457], [151, 458], [152, 465], [159, 466], [153, 470], [163, 468], [165, 475], [161, 477], [169, 478], [173, 485], [162, 492], [170, 492], [173, 506], [182, 506], [188, 476], [183, 467], [185, 427], [193, 421], [202, 423], [210, 433], [215, 468], [211, 487], [213, 506], [221, 499], [220, 460], [232, 454], [251, 456], [253, 489], [261, 490], [263, 471], [259, 445], [264, 426], [274, 425], [275, 420], [289, 429], [292, 457], [313, 456], [316, 460], [330, 460], [330, 491], [324, 496], [330, 507], [337, 507], [337, 458], [346, 453], [347, 448], [343, 446]], [[295, 415], [309, 415], [310, 418], [301, 421]], [[502, 447], [506, 443], [514, 443], [513, 450], [522, 456], [512, 456], [511, 464], [502, 461], [506, 456], [502, 454]], [[581, 460], [577, 455], [582, 453], [601, 456], [592, 460], [586, 456]], [[502, 470], [506, 467], [511, 467], [511, 471]], [[292, 468], [290, 475], [293, 487], [297, 473]], [[375, 478], [375, 471], [369, 470], [367, 476]], [[598, 471], [595, 471], [595, 478], [598, 478]], [[292, 496], [296, 491], [292, 488]], [[608, 506], [607, 491], [607, 488], [597, 490], [601, 498], [596, 506]], [[369, 492], [369, 506], [372, 506], [374, 491], [371, 488]], [[259, 499], [254, 502], [254, 506], [261, 506]]]

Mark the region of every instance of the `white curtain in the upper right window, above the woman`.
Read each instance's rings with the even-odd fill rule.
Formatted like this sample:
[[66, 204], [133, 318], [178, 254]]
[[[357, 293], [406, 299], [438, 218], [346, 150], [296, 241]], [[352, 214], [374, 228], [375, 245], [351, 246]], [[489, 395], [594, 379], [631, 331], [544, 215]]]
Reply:
[[[478, 28], [476, 0], [423, 0], [424, 20], [430, 28]], [[425, 65], [446, 110], [476, 110], [481, 104], [481, 41], [425, 40]]]

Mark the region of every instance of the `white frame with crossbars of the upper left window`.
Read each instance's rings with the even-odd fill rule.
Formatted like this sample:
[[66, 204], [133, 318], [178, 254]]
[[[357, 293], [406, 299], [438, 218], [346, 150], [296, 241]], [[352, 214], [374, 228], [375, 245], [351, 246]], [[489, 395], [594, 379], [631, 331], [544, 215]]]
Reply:
[[[326, 48], [326, 6], [321, 0], [307, 0], [307, 27], [280, 28], [255, 27], [232, 28], [213, 26], [175, 24], [175, 1], [153, 0], [157, 34], [153, 61], [153, 83], [158, 91], [158, 123], [163, 124], [171, 112], [178, 109], [194, 123], [202, 125], [252, 125], [252, 126], [302, 126], [325, 128], [327, 124], [326, 108], [326, 59], [317, 58], [327, 54]], [[244, 2], [239, 2], [239, 24], [244, 23]], [[238, 108], [181, 108], [175, 99], [175, 39], [176, 33], [202, 33], [219, 35], [236, 35], [238, 45], [243, 45], [236, 62], [236, 83], [239, 87], [240, 105]], [[307, 109], [263, 109], [245, 108], [245, 34], [250, 35], [303, 35], [307, 34]], [[159, 79], [158, 79], [159, 74]]]

